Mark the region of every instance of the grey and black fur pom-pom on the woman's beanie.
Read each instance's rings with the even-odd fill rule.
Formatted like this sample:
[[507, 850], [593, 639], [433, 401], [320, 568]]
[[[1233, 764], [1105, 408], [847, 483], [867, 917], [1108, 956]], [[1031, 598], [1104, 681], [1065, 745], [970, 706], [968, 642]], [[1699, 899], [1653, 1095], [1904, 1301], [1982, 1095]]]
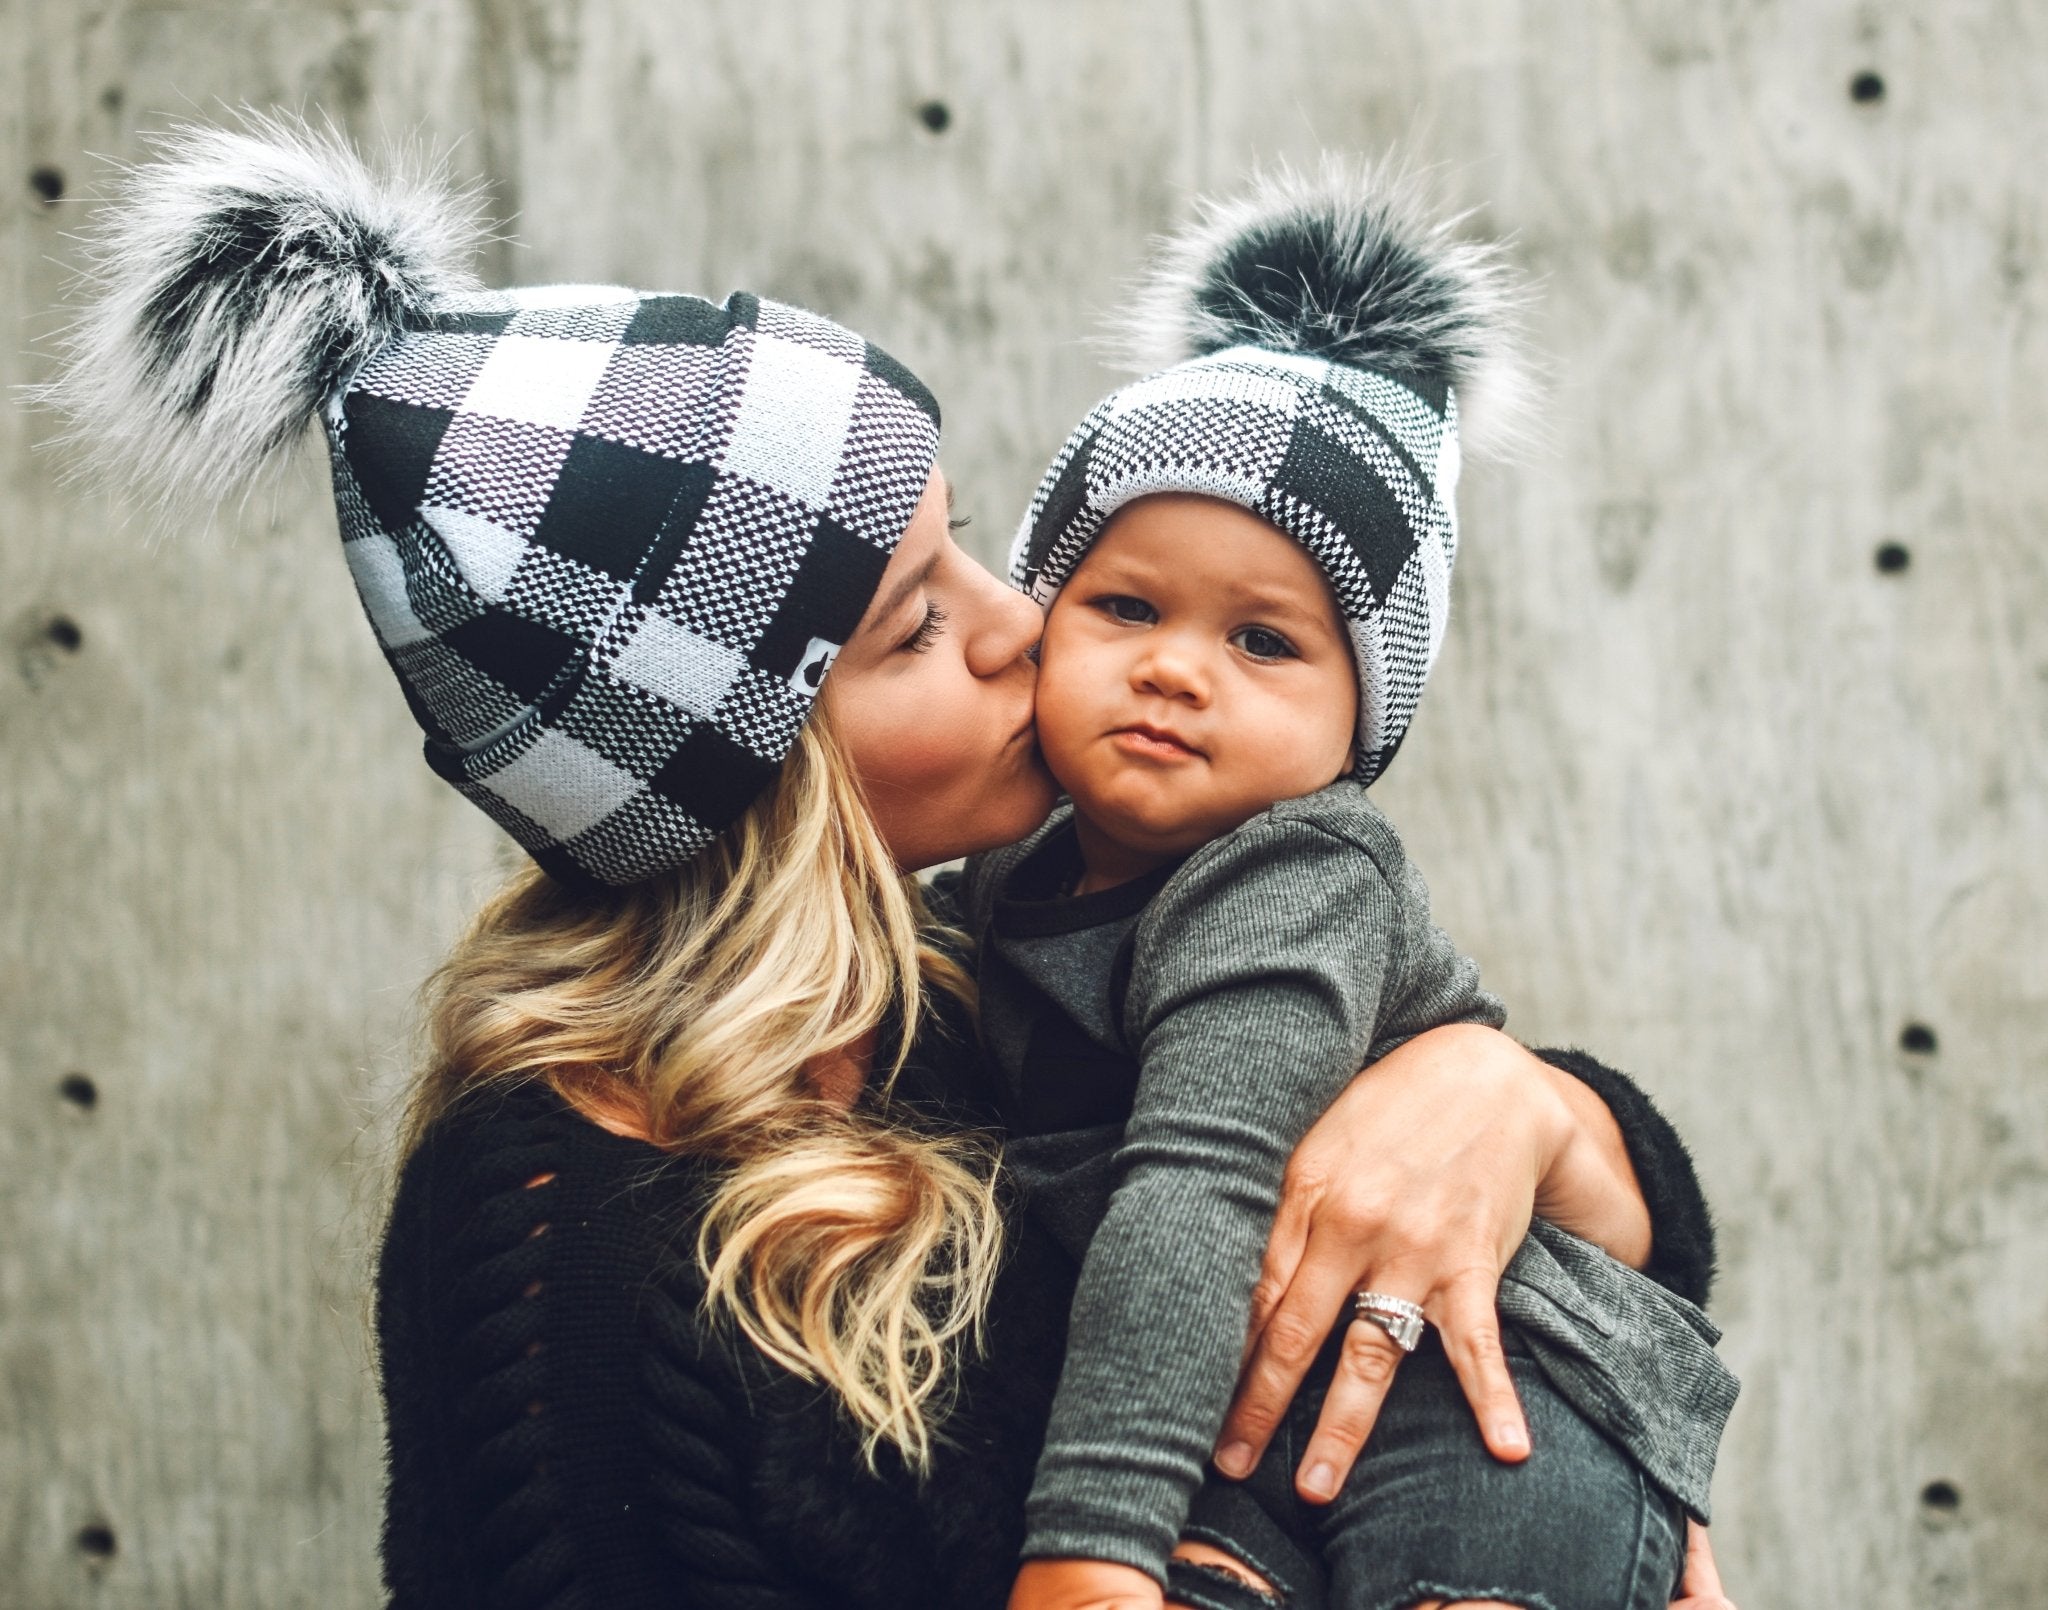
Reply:
[[57, 377], [92, 483], [166, 514], [246, 485], [356, 367], [471, 289], [473, 197], [373, 174], [332, 129], [244, 115], [162, 135], [86, 240]]

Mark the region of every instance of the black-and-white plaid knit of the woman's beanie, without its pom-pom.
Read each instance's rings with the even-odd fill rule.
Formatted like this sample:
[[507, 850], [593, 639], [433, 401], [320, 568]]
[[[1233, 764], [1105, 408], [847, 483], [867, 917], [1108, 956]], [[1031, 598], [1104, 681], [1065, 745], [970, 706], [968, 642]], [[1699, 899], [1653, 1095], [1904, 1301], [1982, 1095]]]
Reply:
[[924, 385], [829, 320], [604, 285], [442, 299], [326, 420], [428, 764], [610, 885], [774, 780], [938, 451]]

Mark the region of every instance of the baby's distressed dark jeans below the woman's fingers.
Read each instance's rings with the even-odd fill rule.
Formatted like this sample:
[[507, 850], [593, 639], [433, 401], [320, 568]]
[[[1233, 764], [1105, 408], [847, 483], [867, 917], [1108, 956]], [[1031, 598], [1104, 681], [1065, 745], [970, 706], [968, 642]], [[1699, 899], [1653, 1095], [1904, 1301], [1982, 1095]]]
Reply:
[[1186, 1536], [1251, 1565], [1276, 1598], [1176, 1563], [1167, 1602], [1194, 1610], [1403, 1610], [1503, 1600], [1532, 1610], [1665, 1610], [1686, 1559], [1683, 1510], [1507, 1336], [1532, 1452], [1501, 1465], [1436, 1331], [1395, 1374], [1380, 1420], [1329, 1506], [1294, 1497], [1337, 1340], [1243, 1483], [1210, 1475]]

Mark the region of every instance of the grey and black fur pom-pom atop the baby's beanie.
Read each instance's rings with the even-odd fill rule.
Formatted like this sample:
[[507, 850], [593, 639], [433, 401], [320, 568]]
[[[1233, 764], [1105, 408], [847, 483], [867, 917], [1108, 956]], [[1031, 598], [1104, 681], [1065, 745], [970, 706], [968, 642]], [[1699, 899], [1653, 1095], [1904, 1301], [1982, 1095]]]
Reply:
[[1526, 291], [1497, 244], [1458, 238], [1462, 221], [1391, 162], [1268, 170], [1163, 242], [1118, 346], [1141, 369], [1264, 346], [1448, 383], [1464, 447], [1511, 449], [1534, 393]]

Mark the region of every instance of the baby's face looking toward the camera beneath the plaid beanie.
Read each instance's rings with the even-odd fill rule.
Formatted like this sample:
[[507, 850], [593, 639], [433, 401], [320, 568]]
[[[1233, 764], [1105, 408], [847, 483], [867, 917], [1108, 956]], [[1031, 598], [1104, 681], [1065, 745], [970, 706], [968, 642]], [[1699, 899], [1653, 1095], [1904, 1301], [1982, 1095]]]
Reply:
[[1356, 723], [1323, 574], [1237, 504], [1124, 506], [1047, 615], [1038, 744], [1075, 809], [1143, 856], [1333, 782]]

